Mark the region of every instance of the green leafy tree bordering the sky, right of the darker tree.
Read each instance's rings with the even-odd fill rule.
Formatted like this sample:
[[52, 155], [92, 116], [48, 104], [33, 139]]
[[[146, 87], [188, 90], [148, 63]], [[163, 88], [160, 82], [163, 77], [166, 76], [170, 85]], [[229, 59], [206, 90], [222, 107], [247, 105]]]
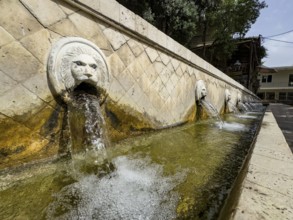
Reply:
[[236, 48], [233, 39], [244, 37], [264, 7], [265, 2], [258, 0], [221, 0], [210, 6], [207, 4], [202, 43], [205, 45], [205, 39], [210, 39], [213, 47], [209, 57], [206, 57], [205, 48], [200, 55], [212, 63], [223, 57], [228, 59]]

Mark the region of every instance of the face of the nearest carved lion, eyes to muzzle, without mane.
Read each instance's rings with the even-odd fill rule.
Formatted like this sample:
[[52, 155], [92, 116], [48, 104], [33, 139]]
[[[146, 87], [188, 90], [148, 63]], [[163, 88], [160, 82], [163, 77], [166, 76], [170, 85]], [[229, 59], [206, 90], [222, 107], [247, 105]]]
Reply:
[[87, 54], [80, 54], [72, 59], [71, 74], [75, 84], [87, 82], [96, 85], [98, 82], [98, 64], [93, 57]]

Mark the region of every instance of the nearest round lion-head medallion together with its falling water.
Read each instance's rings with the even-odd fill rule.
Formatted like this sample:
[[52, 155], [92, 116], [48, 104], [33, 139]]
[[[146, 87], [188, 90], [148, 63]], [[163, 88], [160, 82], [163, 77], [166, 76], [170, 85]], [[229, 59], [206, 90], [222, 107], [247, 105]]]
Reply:
[[[63, 38], [52, 48], [48, 79], [53, 95], [65, 104], [66, 143], [77, 172], [108, 172], [109, 140], [101, 105], [107, 97], [109, 71], [102, 51], [78, 37]], [[101, 167], [108, 166], [104, 169]]]

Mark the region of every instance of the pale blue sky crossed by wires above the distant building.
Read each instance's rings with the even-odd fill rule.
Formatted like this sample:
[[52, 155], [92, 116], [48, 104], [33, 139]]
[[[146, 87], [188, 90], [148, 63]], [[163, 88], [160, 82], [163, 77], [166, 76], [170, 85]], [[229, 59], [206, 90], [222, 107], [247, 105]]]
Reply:
[[263, 45], [268, 50], [267, 58], [262, 61], [265, 66], [292, 66], [293, 65], [293, 1], [292, 0], [265, 0], [267, 8], [261, 10], [257, 21], [252, 25], [246, 37], [262, 35], [269, 37], [287, 31], [288, 34], [271, 37], [272, 39], [289, 41], [283, 43], [264, 40]]

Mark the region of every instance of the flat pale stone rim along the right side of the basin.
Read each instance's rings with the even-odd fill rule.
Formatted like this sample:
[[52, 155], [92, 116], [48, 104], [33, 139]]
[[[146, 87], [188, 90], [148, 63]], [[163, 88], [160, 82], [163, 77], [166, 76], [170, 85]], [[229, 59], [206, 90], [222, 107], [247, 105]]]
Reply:
[[292, 110], [271, 104], [265, 113], [231, 219], [293, 219], [293, 155], [283, 135], [292, 146]]

